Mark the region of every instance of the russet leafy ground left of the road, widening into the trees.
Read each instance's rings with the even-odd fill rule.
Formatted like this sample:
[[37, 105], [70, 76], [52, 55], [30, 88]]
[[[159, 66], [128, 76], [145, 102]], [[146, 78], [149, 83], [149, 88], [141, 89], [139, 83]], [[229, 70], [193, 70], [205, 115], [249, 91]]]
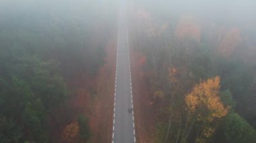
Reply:
[[74, 115], [84, 113], [89, 120], [89, 142], [111, 142], [113, 126], [113, 102], [115, 87], [116, 42], [106, 46], [104, 65], [96, 75], [77, 77], [73, 83], [71, 107]]

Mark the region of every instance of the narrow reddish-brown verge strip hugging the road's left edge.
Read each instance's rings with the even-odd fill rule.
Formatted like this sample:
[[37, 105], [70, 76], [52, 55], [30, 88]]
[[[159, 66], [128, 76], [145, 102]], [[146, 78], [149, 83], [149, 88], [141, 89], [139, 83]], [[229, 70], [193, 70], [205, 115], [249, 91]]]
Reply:
[[96, 78], [98, 94], [90, 115], [92, 142], [111, 142], [112, 140], [116, 45], [116, 42], [110, 42], [106, 47], [105, 64], [100, 68]]

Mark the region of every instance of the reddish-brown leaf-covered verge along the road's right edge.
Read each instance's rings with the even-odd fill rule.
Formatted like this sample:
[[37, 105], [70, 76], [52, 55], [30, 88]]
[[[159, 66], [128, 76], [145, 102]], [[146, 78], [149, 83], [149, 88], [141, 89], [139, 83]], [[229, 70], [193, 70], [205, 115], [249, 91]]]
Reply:
[[154, 142], [154, 110], [153, 99], [148, 90], [146, 75], [143, 66], [146, 64], [146, 56], [141, 55], [135, 50], [131, 50], [131, 80], [133, 85], [133, 101], [135, 112], [136, 139], [140, 143]]

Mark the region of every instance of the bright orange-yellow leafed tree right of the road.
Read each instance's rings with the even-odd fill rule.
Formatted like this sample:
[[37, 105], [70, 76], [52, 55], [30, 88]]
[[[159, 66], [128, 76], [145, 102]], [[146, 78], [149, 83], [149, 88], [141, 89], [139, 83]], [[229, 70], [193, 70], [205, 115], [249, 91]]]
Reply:
[[207, 142], [214, 134], [220, 119], [228, 113], [229, 107], [224, 107], [220, 101], [220, 77], [207, 79], [195, 85], [193, 91], [185, 97], [188, 120], [185, 128], [187, 136], [197, 123], [197, 142]]

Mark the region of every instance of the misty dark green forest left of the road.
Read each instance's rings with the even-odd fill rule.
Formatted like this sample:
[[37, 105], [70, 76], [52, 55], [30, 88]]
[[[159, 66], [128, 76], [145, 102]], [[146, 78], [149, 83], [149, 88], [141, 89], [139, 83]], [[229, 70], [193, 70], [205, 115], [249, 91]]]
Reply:
[[70, 104], [77, 88], [71, 83], [82, 75], [96, 77], [104, 65], [115, 6], [115, 1], [0, 2], [0, 142], [90, 138], [84, 110]]

